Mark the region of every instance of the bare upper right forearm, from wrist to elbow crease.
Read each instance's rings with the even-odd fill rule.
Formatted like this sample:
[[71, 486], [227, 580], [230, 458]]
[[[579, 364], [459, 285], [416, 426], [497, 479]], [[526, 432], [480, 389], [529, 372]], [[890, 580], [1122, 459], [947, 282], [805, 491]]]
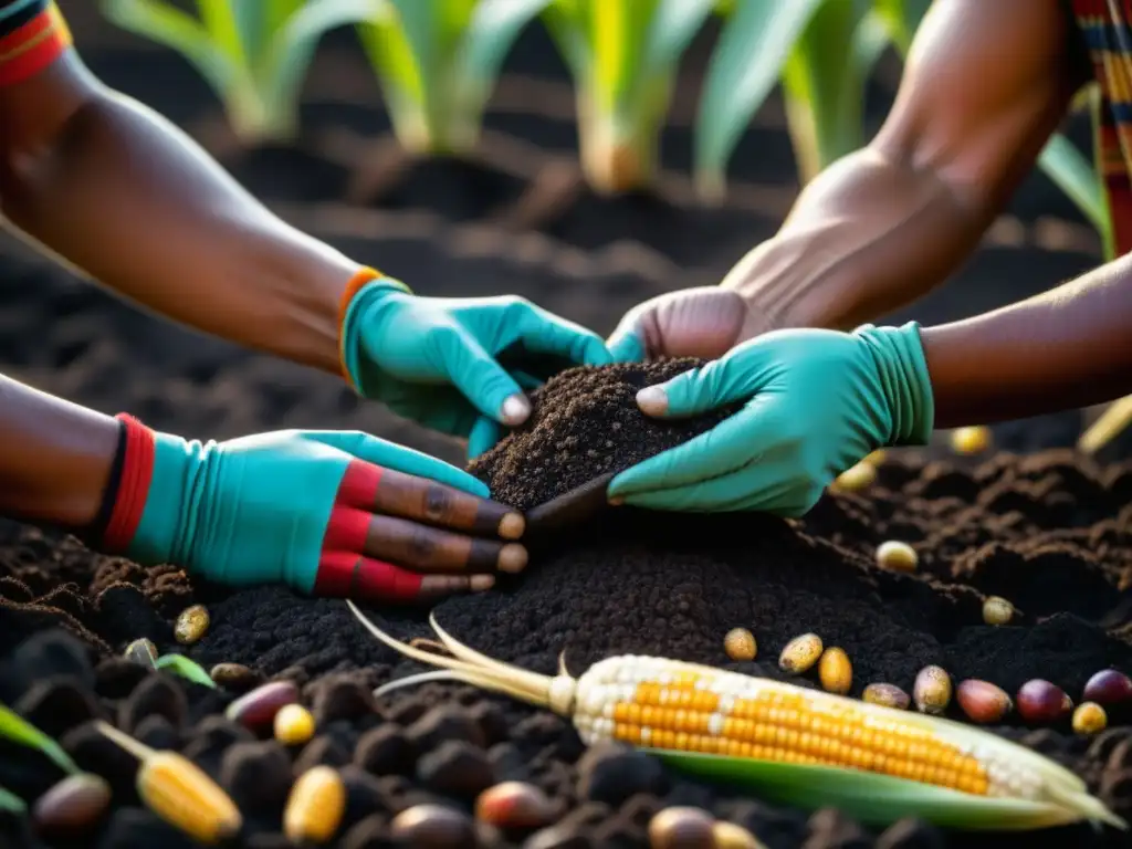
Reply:
[[752, 321], [766, 321], [755, 332], [848, 329], [942, 283], [992, 218], [929, 170], [865, 148], [809, 183], [723, 286], [744, 295]]

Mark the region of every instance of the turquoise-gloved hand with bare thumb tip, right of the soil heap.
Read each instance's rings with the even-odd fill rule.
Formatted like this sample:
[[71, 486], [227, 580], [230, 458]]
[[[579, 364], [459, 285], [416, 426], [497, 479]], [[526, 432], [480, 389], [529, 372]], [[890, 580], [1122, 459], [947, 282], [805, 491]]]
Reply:
[[919, 326], [775, 331], [637, 394], [676, 418], [746, 402], [706, 434], [618, 474], [611, 500], [689, 512], [806, 513], [876, 448], [923, 445], [932, 384]]

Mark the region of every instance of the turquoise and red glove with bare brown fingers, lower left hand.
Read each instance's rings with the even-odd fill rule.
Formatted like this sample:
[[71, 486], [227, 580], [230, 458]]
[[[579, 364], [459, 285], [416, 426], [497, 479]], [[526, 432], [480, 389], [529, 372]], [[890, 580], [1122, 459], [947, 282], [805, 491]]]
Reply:
[[230, 585], [415, 601], [484, 590], [526, 564], [524, 528], [479, 480], [361, 432], [223, 443], [129, 417], [103, 547]]

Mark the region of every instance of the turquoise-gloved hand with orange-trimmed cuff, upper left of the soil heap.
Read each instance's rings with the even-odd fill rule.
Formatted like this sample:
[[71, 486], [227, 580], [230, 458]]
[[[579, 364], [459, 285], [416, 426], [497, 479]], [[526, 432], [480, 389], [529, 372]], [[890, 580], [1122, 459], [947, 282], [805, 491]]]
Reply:
[[530, 388], [612, 358], [597, 334], [521, 298], [420, 298], [378, 277], [349, 294], [342, 361], [361, 395], [469, 437], [474, 456], [501, 436], [500, 426], [530, 415], [520, 380]]

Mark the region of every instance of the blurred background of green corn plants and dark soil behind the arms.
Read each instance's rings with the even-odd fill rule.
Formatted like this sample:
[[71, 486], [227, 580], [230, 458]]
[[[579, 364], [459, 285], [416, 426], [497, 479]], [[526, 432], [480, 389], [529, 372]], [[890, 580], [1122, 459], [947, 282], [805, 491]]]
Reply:
[[[291, 223], [417, 291], [514, 292], [608, 333], [641, 300], [718, 282], [773, 235], [801, 186], [876, 132], [931, 0], [59, 6], [104, 82], [179, 125]], [[971, 261], [887, 320], [993, 309], [1110, 250], [1089, 103], [1086, 89]], [[9, 280], [57, 282], [0, 290], [9, 303], [36, 315], [77, 303], [87, 316], [72, 332], [82, 344], [65, 334], [36, 348], [42, 340], [28, 335], [26, 350], [17, 337], [35, 321], [19, 309], [11, 327], [0, 320], [15, 334], [5, 344], [16, 374], [49, 391], [182, 432], [191, 401], [209, 436], [358, 426], [458, 458], [372, 405], [355, 406], [323, 376], [154, 329], [5, 237], [0, 264], [11, 257], [29, 265]], [[181, 383], [162, 378], [136, 397], [125, 372], [100, 371], [91, 352], [103, 342], [91, 340], [105, 323], [120, 329], [114, 344], [144, 348], [155, 380], [171, 372]], [[247, 380], [261, 394], [234, 414], [225, 393]], [[338, 420], [316, 412], [326, 409], [311, 402], [320, 393]], [[1001, 444], [1072, 445], [1074, 415], [1048, 419], [1044, 436], [1032, 422], [1002, 426]]]

